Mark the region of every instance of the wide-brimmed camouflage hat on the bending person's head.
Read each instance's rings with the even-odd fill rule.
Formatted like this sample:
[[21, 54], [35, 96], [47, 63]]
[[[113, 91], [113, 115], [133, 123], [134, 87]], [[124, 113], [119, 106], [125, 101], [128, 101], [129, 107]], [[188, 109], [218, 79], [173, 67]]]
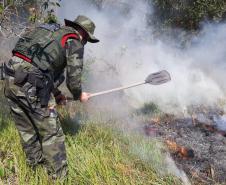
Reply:
[[84, 15], [79, 15], [74, 21], [70, 21], [67, 19], [65, 19], [64, 21], [66, 26], [70, 26], [70, 27], [79, 26], [80, 28], [82, 28], [89, 35], [89, 38], [88, 38], [89, 42], [92, 42], [92, 43], [99, 42], [99, 39], [97, 39], [93, 35], [96, 26], [93, 23], [93, 21], [91, 21], [88, 17]]

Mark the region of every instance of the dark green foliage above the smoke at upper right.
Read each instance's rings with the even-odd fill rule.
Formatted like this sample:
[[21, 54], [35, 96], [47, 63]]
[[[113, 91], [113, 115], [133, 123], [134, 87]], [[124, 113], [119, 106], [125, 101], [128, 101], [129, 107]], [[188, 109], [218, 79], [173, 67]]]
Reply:
[[218, 0], [150, 0], [154, 21], [161, 25], [188, 30], [200, 28], [200, 22], [220, 21], [226, 15], [226, 1]]

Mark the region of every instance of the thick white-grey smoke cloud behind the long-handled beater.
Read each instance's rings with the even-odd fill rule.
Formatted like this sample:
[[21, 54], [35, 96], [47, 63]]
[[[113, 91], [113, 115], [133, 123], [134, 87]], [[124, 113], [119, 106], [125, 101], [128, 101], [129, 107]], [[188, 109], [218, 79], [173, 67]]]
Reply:
[[[177, 39], [159, 37], [154, 27], [147, 25], [152, 8], [145, 0], [106, 1], [101, 10], [88, 0], [67, 0], [58, 10], [61, 21], [74, 20], [80, 14], [95, 22], [95, 36], [101, 41], [86, 46], [89, 75], [85, 90], [96, 92], [143, 81], [150, 73], [163, 69], [172, 77], [170, 83], [161, 86], [144, 85], [98, 97], [92, 100], [93, 107], [114, 109], [123, 117], [130, 107], [145, 102], [178, 113], [190, 105], [213, 105], [225, 98], [226, 24], [203, 25], [190, 46], [181, 48]], [[179, 173], [176, 175], [185, 178]]]

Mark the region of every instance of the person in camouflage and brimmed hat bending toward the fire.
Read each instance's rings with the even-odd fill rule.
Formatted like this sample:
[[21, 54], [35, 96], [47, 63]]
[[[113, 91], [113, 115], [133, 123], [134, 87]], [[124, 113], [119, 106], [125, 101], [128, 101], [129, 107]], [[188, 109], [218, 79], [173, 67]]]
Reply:
[[65, 103], [65, 96], [58, 86], [66, 70], [74, 100], [89, 99], [90, 94], [82, 92], [81, 74], [85, 44], [99, 42], [94, 30], [95, 24], [82, 15], [75, 21], [65, 19], [65, 26], [41, 24], [18, 40], [4, 64], [4, 92], [27, 163], [44, 164], [53, 178], [68, 173], [65, 137], [55, 110], [56, 103]]

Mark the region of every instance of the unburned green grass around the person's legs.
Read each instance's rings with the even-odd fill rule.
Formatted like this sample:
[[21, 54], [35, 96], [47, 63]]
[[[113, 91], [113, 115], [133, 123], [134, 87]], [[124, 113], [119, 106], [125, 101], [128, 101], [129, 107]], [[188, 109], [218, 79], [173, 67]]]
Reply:
[[[67, 118], [64, 123], [69, 122]], [[107, 123], [92, 121], [86, 121], [74, 134], [66, 129], [65, 133], [69, 175], [64, 184], [179, 184], [174, 177], [160, 176], [154, 170], [162, 160], [155, 142], [125, 136]], [[60, 184], [42, 167], [33, 171], [26, 165], [18, 132], [6, 115], [0, 118], [0, 179], [0, 184]]]

